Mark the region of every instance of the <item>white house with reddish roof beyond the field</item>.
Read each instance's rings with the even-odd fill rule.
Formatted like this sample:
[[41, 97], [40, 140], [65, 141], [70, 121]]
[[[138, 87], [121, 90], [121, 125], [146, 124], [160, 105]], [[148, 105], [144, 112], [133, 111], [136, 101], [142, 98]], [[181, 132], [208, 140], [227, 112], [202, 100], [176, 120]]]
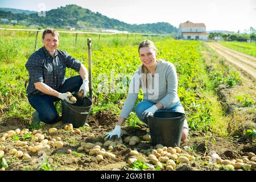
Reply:
[[185, 40], [207, 40], [208, 34], [204, 23], [184, 22], [179, 25], [179, 37]]

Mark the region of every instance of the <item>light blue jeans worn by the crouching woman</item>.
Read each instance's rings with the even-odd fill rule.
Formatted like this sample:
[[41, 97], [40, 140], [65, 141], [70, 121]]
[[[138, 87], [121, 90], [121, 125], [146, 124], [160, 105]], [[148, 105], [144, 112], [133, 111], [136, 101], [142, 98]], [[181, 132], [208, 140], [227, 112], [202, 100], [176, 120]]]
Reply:
[[[139, 104], [136, 106], [135, 108], [135, 113], [137, 115], [137, 117], [139, 118], [139, 120], [141, 120], [143, 123], [146, 123], [146, 125], [148, 125], [147, 123], [147, 118], [142, 119], [142, 113], [148, 109], [149, 107], [155, 105], [154, 102], [151, 101], [147, 101], [147, 100], [143, 100], [142, 102], [139, 102]], [[175, 104], [173, 107], [171, 107], [170, 109], [159, 109], [159, 110], [168, 110], [168, 111], [175, 111], [175, 112], [179, 112], [179, 113], [185, 113], [183, 106], [181, 105], [180, 101], [177, 102], [177, 104]], [[184, 120], [184, 124], [183, 127], [188, 129], [188, 122], [187, 119]]]

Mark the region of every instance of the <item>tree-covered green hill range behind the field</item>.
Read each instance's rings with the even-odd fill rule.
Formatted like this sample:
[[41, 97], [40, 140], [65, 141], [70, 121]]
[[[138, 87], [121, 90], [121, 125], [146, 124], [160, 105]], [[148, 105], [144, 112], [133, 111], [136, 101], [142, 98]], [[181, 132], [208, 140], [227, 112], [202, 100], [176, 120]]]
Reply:
[[13, 12], [13, 10], [7, 12], [0, 10], [0, 18], [15, 19], [18, 20], [18, 23], [20, 22], [27, 26], [29, 24], [55, 28], [71, 26], [81, 30], [93, 27], [151, 34], [175, 34], [177, 32], [177, 28], [170, 23], [128, 24], [77, 5], [61, 6], [57, 9], [49, 10], [46, 12], [46, 16], [38, 16], [38, 13], [15, 14]]

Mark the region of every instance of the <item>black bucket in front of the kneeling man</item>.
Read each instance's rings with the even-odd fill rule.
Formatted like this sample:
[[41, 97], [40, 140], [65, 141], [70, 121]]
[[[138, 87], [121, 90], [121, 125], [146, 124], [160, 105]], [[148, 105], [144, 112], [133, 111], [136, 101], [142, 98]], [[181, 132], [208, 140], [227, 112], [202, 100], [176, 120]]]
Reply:
[[92, 101], [88, 97], [78, 98], [77, 94], [75, 104], [68, 104], [67, 101], [61, 101], [62, 122], [72, 123], [73, 127], [79, 128], [85, 125], [90, 110], [92, 109]]

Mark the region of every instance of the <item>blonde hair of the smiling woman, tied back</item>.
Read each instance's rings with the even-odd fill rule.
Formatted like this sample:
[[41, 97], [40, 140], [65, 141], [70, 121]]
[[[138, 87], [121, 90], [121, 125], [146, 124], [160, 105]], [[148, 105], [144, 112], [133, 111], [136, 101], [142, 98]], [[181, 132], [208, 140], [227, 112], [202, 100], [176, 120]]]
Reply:
[[[154, 42], [152, 42], [151, 40], [143, 40], [141, 43], [139, 43], [139, 49], [141, 49], [142, 47], [148, 47], [150, 49], [153, 49], [154, 51], [157, 51], [158, 49], [155, 47]], [[138, 49], [138, 52], [139, 52]], [[161, 59], [156, 59], [156, 62], [160, 62], [162, 61]], [[150, 71], [147, 69], [147, 67], [142, 64], [141, 65], [141, 71], [142, 71], [142, 82], [145, 84], [146, 83], [146, 88], [147, 88], [147, 75], [148, 73], [150, 73]], [[144, 75], [144, 76], [143, 76]]]

